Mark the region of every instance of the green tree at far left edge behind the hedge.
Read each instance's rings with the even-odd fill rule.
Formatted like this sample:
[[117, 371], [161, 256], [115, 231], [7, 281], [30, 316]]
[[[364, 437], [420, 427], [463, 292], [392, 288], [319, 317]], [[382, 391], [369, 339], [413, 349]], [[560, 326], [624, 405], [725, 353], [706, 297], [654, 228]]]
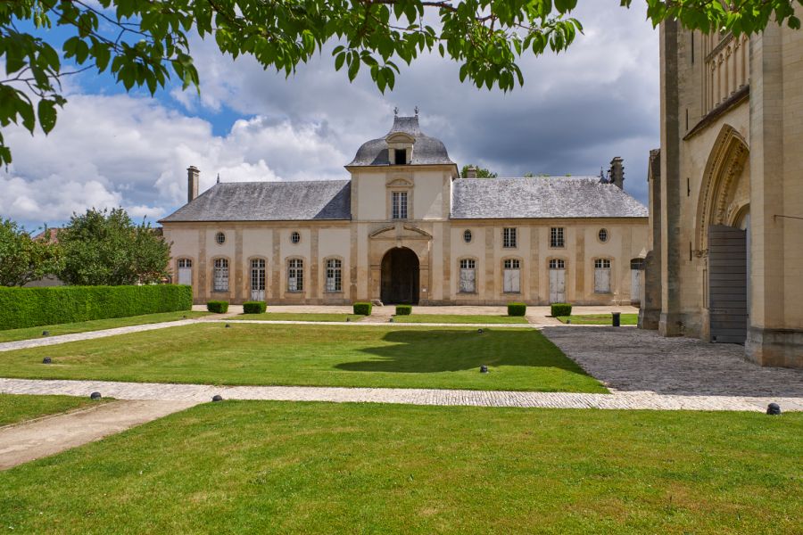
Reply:
[[0, 221], [0, 285], [22, 286], [57, 274], [61, 265], [62, 251], [57, 243], [33, 239], [11, 219]]

